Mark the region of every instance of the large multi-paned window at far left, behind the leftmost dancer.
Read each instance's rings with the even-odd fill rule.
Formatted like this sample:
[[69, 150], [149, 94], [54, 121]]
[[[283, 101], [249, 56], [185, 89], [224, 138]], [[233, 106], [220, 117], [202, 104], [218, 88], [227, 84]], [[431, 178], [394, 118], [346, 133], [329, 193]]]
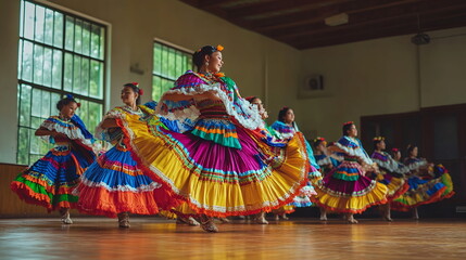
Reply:
[[105, 72], [104, 25], [33, 1], [21, 1], [17, 75], [18, 164], [29, 165], [50, 145], [34, 135], [58, 115], [56, 102], [72, 93], [91, 131], [102, 118]]

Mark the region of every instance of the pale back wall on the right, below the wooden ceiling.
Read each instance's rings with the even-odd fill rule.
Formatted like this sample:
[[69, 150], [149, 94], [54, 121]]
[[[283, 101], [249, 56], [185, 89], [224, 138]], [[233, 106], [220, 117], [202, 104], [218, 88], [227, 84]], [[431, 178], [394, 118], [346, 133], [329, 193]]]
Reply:
[[300, 77], [323, 75], [331, 94], [295, 102], [301, 129], [336, 140], [361, 116], [466, 103], [466, 27], [428, 34], [420, 47], [408, 35], [303, 51]]

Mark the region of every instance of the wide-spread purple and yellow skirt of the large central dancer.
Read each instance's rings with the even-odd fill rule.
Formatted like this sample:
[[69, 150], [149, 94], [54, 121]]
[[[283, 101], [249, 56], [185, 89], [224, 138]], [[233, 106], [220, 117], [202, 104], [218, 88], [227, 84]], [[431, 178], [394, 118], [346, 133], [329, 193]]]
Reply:
[[[156, 182], [196, 213], [227, 217], [270, 211], [289, 204], [306, 182], [302, 135], [276, 155], [253, 131], [236, 125], [232, 129], [225, 115], [201, 117], [194, 129], [188, 133], [159, 127], [148, 131], [138, 120], [128, 120], [123, 128], [131, 136], [127, 146], [144, 165], [142, 170], [155, 176]], [[199, 131], [214, 134], [205, 140]]]

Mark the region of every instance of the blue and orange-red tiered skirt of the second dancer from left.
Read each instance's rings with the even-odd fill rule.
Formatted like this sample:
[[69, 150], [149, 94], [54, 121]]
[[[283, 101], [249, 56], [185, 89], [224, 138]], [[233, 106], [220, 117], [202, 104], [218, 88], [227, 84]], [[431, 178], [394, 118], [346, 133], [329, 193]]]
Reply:
[[117, 213], [156, 214], [169, 205], [169, 194], [138, 167], [122, 145], [109, 150], [83, 173], [75, 193], [78, 209], [89, 214], [116, 218]]

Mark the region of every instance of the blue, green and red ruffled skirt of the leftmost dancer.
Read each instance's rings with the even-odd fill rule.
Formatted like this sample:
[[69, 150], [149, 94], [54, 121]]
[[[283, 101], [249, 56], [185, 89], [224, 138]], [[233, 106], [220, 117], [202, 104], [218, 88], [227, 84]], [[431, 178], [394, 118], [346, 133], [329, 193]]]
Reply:
[[10, 186], [21, 199], [46, 207], [49, 212], [60, 208], [76, 208], [78, 197], [72, 192], [93, 158], [91, 148], [80, 147], [77, 151], [68, 144], [56, 144], [46, 156], [20, 173]]

